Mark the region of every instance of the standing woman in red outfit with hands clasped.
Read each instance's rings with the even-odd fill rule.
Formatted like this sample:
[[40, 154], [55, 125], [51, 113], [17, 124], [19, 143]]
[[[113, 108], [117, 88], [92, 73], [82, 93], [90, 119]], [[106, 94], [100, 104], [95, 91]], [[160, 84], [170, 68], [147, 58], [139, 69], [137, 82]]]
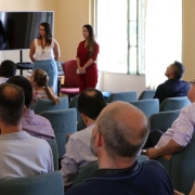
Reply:
[[96, 57], [99, 44], [95, 42], [94, 32], [91, 25], [82, 27], [84, 38], [77, 48], [77, 67], [79, 75], [80, 93], [87, 88], [95, 88], [98, 82]]

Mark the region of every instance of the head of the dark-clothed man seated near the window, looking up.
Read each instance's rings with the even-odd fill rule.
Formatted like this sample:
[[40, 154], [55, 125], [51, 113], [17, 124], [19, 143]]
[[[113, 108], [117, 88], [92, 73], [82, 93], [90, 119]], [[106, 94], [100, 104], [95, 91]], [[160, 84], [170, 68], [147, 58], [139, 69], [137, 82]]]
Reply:
[[167, 76], [168, 79], [171, 78], [181, 79], [184, 72], [185, 72], [185, 66], [182, 63], [174, 61], [174, 63], [170, 64], [167, 67], [165, 76]]

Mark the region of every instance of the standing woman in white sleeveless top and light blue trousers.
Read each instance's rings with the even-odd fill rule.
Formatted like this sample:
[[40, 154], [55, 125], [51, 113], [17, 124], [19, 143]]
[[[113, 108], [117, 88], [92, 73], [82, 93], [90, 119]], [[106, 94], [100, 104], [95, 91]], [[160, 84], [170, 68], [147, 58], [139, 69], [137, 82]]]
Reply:
[[49, 76], [49, 86], [53, 87], [57, 94], [57, 66], [60, 57], [60, 47], [52, 38], [50, 24], [41, 23], [39, 26], [39, 37], [31, 42], [29, 57], [35, 69], [43, 69]]

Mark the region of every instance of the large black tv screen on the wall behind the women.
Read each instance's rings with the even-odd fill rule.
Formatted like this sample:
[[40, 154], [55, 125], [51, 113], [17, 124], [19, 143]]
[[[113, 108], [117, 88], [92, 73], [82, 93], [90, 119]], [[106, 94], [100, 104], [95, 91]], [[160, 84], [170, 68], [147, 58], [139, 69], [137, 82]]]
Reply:
[[29, 49], [43, 22], [51, 25], [53, 35], [53, 11], [0, 12], [0, 50]]

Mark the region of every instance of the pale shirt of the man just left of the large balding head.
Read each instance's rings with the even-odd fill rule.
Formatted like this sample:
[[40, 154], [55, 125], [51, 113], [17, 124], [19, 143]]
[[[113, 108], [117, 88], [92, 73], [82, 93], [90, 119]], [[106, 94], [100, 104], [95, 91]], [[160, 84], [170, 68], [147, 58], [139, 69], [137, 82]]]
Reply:
[[66, 154], [61, 161], [61, 173], [64, 179], [64, 185], [74, 183], [80, 169], [88, 164], [98, 161], [98, 158], [91, 152], [91, 135], [95, 125], [91, 125], [81, 131], [73, 133], [65, 146]]

